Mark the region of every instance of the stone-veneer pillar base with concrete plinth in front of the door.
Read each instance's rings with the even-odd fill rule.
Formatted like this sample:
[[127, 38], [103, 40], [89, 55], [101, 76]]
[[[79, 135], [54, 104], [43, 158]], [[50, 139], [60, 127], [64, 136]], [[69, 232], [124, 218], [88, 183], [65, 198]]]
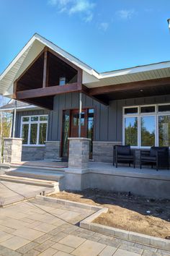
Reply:
[[86, 176], [89, 172], [90, 139], [71, 137], [69, 140], [68, 168], [65, 171], [65, 188], [82, 190], [89, 187]]

